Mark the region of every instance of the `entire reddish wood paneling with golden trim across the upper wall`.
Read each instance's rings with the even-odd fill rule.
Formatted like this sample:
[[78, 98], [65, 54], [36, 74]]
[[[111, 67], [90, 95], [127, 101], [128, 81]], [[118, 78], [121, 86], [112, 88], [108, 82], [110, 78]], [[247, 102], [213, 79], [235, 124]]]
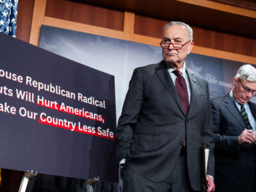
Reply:
[[[20, 1], [20, 7], [25, 1], [35, 1], [35, 5], [37, 4], [35, 6], [37, 11], [34, 10], [35, 17], [33, 17], [29, 41], [34, 45], [38, 45], [42, 24], [142, 44], [159, 45], [163, 26], [168, 23], [167, 20], [92, 6], [75, 0], [22, 0]], [[44, 6], [40, 5], [42, 1], [45, 2]], [[26, 20], [26, 17], [31, 17], [28, 11], [22, 11], [27, 12], [22, 19]], [[126, 19], [125, 14], [129, 15]], [[36, 28], [33, 28], [33, 25], [36, 25]], [[231, 35], [193, 26], [192, 28], [194, 29], [194, 42], [197, 47], [197, 49], [194, 49], [196, 53], [222, 57], [228, 60], [256, 63], [256, 38]], [[29, 35], [29, 31], [24, 30], [22, 32], [24, 35]], [[17, 34], [20, 35], [19, 31], [17, 31]], [[26, 41], [28, 42], [28, 40]]]

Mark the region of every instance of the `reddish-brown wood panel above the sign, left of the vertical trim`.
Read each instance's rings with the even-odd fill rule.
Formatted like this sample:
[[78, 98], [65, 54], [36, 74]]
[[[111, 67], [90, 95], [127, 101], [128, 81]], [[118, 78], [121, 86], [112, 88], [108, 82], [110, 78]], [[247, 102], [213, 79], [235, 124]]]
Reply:
[[72, 1], [48, 0], [45, 16], [118, 31], [124, 29], [124, 12]]

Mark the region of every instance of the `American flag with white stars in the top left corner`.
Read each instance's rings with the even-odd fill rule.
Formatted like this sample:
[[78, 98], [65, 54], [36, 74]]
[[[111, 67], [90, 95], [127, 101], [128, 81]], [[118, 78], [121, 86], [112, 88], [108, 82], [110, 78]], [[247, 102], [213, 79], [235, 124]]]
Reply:
[[16, 36], [19, 0], [0, 0], [0, 32]]

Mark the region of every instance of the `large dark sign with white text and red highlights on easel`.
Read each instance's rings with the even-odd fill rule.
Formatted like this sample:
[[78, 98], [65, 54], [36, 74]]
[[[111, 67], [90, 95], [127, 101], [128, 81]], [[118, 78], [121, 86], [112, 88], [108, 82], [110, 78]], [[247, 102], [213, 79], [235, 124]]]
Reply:
[[0, 41], [0, 167], [116, 181], [114, 77]]

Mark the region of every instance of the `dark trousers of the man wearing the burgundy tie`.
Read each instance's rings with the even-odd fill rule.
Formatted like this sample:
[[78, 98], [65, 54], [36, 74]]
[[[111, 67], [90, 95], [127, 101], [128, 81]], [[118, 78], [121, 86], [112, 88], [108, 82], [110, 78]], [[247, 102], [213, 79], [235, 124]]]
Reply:
[[[156, 171], [157, 174], [157, 171]], [[199, 177], [199, 175], [198, 175]], [[164, 182], [153, 182], [129, 168], [125, 168], [123, 192], [192, 192], [189, 183], [186, 157], [179, 156], [172, 174]]]

